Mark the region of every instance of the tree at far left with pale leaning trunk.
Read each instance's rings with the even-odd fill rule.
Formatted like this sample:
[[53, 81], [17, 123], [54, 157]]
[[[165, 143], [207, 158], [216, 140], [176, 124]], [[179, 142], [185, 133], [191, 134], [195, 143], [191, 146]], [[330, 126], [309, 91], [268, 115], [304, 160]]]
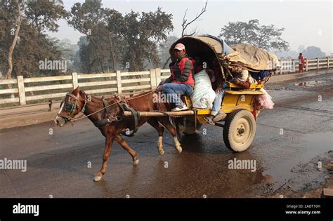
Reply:
[[0, 20], [5, 22], [6, 29], [0, 42], [0, 61], [8, 64], [8, 67], [1, 67], [7, 73], [7, 79], [11, 79], [13, 74], [37, 74], [41, 72], [39, 60], [59, 58], [54, 42], [42, 32], [46, 29], [56, 32], [56, 21], [65, 15], [63, 1], [60, 0], [3, 1]]

